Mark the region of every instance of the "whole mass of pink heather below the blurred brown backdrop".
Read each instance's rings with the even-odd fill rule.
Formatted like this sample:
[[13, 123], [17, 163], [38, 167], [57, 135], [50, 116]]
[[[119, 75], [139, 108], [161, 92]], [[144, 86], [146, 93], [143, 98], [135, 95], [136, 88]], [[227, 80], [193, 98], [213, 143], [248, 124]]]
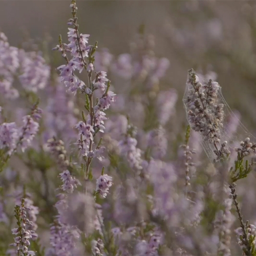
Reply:
[[188, 71], [180, 120], [154, 36], [114, 56], [70, 9], [58, 67], [0, 34], [0, 253], [256, 255], [239, 190], [256, 140], [217, 74]]

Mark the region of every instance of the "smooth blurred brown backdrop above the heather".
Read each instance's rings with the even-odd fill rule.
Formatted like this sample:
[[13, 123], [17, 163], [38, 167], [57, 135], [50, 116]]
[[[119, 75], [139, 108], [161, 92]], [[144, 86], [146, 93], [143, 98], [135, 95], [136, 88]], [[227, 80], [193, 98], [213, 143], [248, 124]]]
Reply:
[[[130, 52], [138, 29], [155, 37], [155, 54], [170, 66], [162, 87], [178, 90], [182, 110], [187, 70], [215, 72], [223, 96], [242, 122], [256, 124], [256, 3], [254, 1], [78, 1], [80, 31], [117, 56]], [[1, 1], [0, 29], [10, 45], [24, 35], [66, 40], [69, 1]], [[121, 84], [115, 84], [121, 86]], [[181, 113], [182, 115], [182, 113]], [[252, 131], [251, 131], [252, 132]], [[253, 133], [253, 132], [252, 132]]]

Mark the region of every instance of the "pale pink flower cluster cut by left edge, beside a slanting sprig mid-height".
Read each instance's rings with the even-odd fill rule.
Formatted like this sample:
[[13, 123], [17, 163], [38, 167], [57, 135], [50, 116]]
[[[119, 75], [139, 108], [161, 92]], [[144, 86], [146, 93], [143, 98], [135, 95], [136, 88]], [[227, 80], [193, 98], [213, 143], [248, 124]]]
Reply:
[[8, 148], [10, 155], [16, 148], [18, 129], [16, 123], [3, 123], [0, 125], [0, 149]]

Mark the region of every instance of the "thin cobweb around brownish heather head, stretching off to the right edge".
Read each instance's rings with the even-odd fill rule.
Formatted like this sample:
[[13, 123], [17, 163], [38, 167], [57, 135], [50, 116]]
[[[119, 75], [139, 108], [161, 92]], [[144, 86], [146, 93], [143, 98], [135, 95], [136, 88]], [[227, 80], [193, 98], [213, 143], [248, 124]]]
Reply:
[[[196, 75], [194, 70], [189, 70], [189, 72], [190, 73], [188, 74], [188, 77], [191, 74]], [[234, 114], [234, 112], [230, 109], [229, 105], [227, 104], [225, 98], [222, 95], [222, 91], [221, 91], [221, 87], [220, 87], [219, 83], [211, 81], [210, 79], [207, 81], [204, 79], [204, 77], [202, 75], [198, 75], [198, 76], [196, 75], [195, 79], [196, 79], [197, 84], [200, 83], [200, 90], [198, 91], [199, 94], [203, 93], [205, 88], [207, 88], [208, 84], [210, 84], [210, 83], [214, 84], [214, 86], [216, 86], [216, 88], [217, 88], [216, 97], [214, 99], [215, 102], [213, 104], [209, 104], [209, 108], [212, 108], [212, 105], [215, 106], [215, 105], [220, 105], [220, 104], [222, 107], [221, 123], [219, 123], [218, 125], [215, 126], [216, 129], [218, 130], [218, 136], [219, 136], [218, 138], [220, 140], [220, 142], [219, 142], [220, 147], [225, 144], [225, 147], [228, 148], [228, 150], [232, 154], [234, 152], [234, 147], [240, 146], [240, 141], [244, 141], [245, 138], [248, 137], [251, 140], [253, 140], [254, 142], [256, 142], [256, 138], [241, 123], [239, 115]], [[191, 126], [191, 129], [194, 128], [193, 130], [195, 130], [195, 125], [193, 122], [191, 122], [191, 117], [189, 118], [189, 115], [191, 115], [191, 106], [195, 104], [195, 102], [193, 102], [193, 99], [195, 100], [195, 97], [194, 97], [195, 93], [196, 92], [193, 88], [193, 84], [187, 82], [186, 88], [185, 88], [185, 93], [183, 96], [183, 103], [184, 103], [184, 107], [186, 110], [187, 120], [189, 122], [189, 125]], [[207, 108], [207, 106], [205, 106], [203, 104], [203, 102], [201, 102], [200, 100], [198, 100], [198, 104], [201, 105], [201, 108], [203, 108], [203, 106], [204, 106], [204, 108]], [[215, 109], [212, 108], [212, 109], [216, 113], [216, 108]], [[193, 107], [192, 107], [192, 110], [193, 110]], [[195, 107], [194, 107], [194, 110], [195, 110]], [[215, 118], [215, 117], [213, 117], [213, 118]], [[210, 119], [210, 121], [212, 121], [212, 123], [214, 123], [214, 120]], [[196, 129], [197, 129], [197, 127], [196, 127]], [[200, 132], [201, 144], [202, 144], [202, 147], [204, 148], [204, 151], [205, 151], [207, 157], [209, 158], [209, 160], [211, 162], [215, 162], [218, 157], [216, 154], [216, 144], [214, 142], [212, 142], [211, 139], [207, 139], [207, 136], [202, 135], [203, 131], [201, 131], [201, 130], [196, 130], [196, 131]]]

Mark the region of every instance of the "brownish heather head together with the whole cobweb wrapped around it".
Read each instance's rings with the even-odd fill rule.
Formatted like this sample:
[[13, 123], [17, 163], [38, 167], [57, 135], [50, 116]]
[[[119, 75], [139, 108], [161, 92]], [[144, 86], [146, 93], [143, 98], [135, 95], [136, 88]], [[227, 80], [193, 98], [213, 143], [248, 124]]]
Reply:
[[247, 137], [256, 141], [231, 111], [219, 83], [199, 79], [193, 69], [188, 71], [183, 103], [189, 125], [200, 132], [201, 144], [211, 162], [228, 157]]

